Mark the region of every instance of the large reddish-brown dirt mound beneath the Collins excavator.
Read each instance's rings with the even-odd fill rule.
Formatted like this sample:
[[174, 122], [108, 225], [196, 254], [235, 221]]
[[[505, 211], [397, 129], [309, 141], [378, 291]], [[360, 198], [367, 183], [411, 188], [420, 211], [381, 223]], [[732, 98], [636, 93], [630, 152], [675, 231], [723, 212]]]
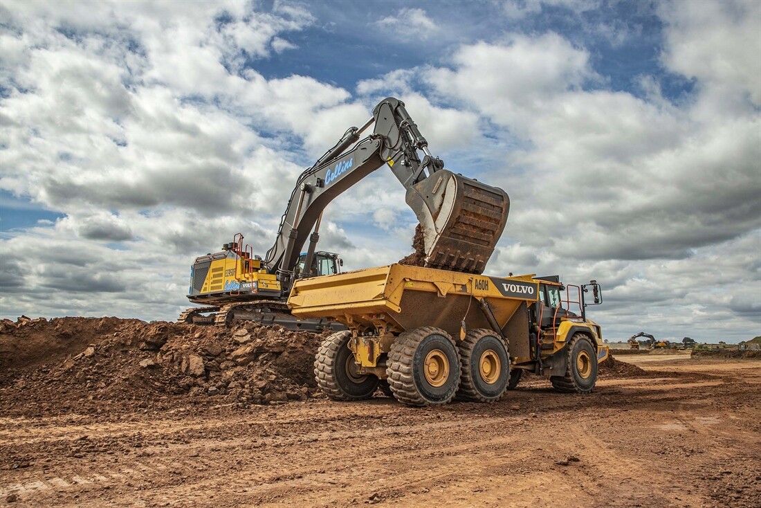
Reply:
[[[117, 318], [2, 321], [2, 405], [23, 414], [170, 407], [176, 398], [269, 404], [316, 393], [317, 334]], [[7, 353], [7, 355], [5, 354]], [[93, 404], [92, 401], [103, 401]], [[12, 410], [11, 410], [12, 411]]]

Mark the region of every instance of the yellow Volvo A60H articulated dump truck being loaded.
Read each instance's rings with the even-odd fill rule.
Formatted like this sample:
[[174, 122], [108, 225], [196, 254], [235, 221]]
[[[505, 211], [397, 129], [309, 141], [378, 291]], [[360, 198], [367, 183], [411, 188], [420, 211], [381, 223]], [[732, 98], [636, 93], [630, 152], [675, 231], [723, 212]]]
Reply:
[[[585, 302], [591, 292], [593, 302]], [[559, 391], [587, 393], [608, 356], [587, 305], [600, 286], [564, 286], [558, 276], [493, 277], [391, 264], [295, 282], [299, 318], [348, 327], [328, 337], [314, 363], [336, 401], [377, 388], [412, 406], [498, 401], [524, 371]], [[578, 311], [578, 312], [572, 312]]]

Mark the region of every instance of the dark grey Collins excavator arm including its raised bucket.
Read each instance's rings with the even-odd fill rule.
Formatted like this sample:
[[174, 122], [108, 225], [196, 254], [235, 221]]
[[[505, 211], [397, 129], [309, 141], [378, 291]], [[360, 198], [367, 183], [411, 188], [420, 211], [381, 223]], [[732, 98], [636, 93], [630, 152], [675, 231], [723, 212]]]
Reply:
[[[360, 140], [372, 124], [374, 132]], [[298, 177], [265, 260], [284, 289], [290, 288], [301, 248], [328, 203], [383, 165], [406, 188], [406, 203], [422, 226], [425, 266], [482, 273], [507, 222], [507, 193], [444, 169], [444, 162], [428, 151], [428, 141], [404, 103], [388, 97], [374, 107], [365, 125], [347, 130]], [[310, 252], [316, 235], [310, 238]]]

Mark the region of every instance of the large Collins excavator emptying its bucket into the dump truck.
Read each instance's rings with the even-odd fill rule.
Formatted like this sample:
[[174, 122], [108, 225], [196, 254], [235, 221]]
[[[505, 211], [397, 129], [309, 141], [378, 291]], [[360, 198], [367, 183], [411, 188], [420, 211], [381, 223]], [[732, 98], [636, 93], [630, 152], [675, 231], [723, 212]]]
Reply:
[[[373, 125], [372, 133], [361, 138]], [[187, 309], [178, 321], [226, 326], [251, 320], [290, 330], [345, 329], [331, 319], [296, 318], [286, 302], [295, 280], [340, 272], [338, 254], [316, 251], [323, 210], [384, 165], [406, 189], [406, 203], [419, 220], [422, 266], [482, 273], [508, 219], [507, 193], [445, 169], [444, 161], [431, 155], [405, 104], [387, 97], [367, 122], [346, 130], [301, 173], [265, 257], [254, 254], [240, 233], [222, 251], [196, 257], [187, 298], [203, 306]]]

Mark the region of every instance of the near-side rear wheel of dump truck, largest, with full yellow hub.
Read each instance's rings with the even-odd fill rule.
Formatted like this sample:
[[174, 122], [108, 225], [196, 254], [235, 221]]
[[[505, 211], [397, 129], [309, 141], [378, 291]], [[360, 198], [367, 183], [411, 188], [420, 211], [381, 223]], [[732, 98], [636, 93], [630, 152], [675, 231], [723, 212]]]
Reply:
[[391, 345], [386, 372], [394, 397], [403, 404], [447, 404], [460, 385], [460, 355], [447, 332], [414, 328]]

